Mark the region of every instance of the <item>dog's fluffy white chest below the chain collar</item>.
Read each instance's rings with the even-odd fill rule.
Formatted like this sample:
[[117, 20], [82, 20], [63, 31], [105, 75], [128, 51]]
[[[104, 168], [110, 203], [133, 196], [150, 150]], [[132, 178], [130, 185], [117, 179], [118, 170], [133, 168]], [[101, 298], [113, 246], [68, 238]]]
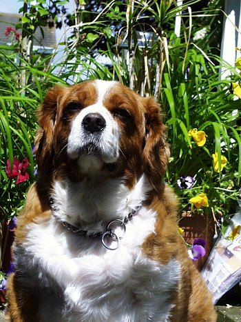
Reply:
[[[38, 268], [42, 286], [58, 285], [63, 321], [168, 321], [180, 268], [175, 261], [160, 265], [141, 251], [154, 222], [153, 212], [140, 212], [127, 224], [117, 250], [105, 250], [99, 239], [86, 241], [53, 222], [32, 225], [24, 245], [29, 256], [22, 256], [19, 265], [28, 272]], [[41, 299], [46, 321], [62, 319], [50, 319], [59, 294], [55, 296], [52, 305]]]

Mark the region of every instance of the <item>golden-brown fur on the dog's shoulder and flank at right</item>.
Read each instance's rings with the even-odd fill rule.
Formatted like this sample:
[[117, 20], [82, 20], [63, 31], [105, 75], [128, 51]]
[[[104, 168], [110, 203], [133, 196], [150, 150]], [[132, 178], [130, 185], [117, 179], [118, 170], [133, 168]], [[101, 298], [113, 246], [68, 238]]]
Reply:
[[[161, 199], [161, 202], [160, 202]], [[214, 322], [217, 319], [211, 294], [200, 273], [187, 255], [187, 246], [177, 230], [176, 198], [163, 185], [163, 191], [151, 198], [149, 208], [156, 210], [156, 232], [149, 235], [143, 250], [151, 259], [168, 263], [177, 258], [182, 266], [178, 292], [174, 292], [173, 316], [171, 322]]]

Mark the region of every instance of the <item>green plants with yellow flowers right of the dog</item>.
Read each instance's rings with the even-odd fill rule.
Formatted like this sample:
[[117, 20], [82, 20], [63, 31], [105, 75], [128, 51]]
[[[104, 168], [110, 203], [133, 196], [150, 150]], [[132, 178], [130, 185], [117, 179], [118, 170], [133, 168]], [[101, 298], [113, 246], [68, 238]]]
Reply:
[[176, 68], [164, 73], [162, 97], [171, 145], [167, 181], [180, 212], [221, 218], [224, 229], [240, 198], [240, 98], [229, 89], [239, 75], [229, 66], [233, 74], [221, 81], [218, 66], [194, 49], [186, 61], [178, 52], [173, 59]]

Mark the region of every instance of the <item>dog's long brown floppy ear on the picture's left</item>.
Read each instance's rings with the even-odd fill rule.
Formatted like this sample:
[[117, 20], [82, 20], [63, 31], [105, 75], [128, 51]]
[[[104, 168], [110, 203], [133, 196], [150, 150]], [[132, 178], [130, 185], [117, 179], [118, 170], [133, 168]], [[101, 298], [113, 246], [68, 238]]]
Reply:
[[52, 165], [56, 111], [64, 92], [64, 87], [55, 85], [45, 95], [43, 103], [37, 111], [40, 127], [36, 132], [33, 153], [36, 154], [38, 170], [41, 172], [48, 171]]

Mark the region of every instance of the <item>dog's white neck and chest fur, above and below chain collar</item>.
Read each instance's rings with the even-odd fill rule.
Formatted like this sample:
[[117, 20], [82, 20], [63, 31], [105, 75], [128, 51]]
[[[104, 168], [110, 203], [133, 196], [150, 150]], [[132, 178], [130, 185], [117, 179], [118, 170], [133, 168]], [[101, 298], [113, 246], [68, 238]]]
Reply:
[[100, 238], [74, 234], [59, 222], [98, 230], [101, 221], [125, 218], [151, 189], [145, 175], [132, 190], [117, 179], [94, 183], [57, 181], [54, 216], [31, 223], [25, 243], [15, 247], [17, 268], [25, 273], [22, 282], [44, 289], [39, 292], [41, 321], [168, 321], [180, 265], [160, 265], [141, 250], [154, 232], [154, 211], [140, 208], [116, 250], [107, 250]]

